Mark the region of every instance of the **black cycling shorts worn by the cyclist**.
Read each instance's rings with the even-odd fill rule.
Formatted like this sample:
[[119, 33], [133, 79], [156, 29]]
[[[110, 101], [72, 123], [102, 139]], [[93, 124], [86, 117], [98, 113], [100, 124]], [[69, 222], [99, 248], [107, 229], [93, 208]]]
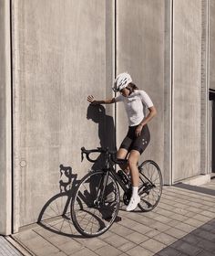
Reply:
[[120, 145], [120, 148], [125, 148], [128, 150], [128, 152], [131, 150], [137, 150], [141, 155], [148, 146], [150, 141], [150, 133], [148, 130], [148, 125], [146, 124], [143, 126], [140, 135], [137, 137], [135, 133], [137, 127], [138, 125], [128, 127], [128, 133]]

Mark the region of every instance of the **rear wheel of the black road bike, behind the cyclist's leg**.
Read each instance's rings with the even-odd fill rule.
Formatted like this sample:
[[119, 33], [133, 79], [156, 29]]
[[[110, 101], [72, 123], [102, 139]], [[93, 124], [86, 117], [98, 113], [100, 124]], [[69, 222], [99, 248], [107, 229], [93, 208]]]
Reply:
[[142, 211], [150, 211], [159, 204], [163, 186], [162, 175], [159, 165], [152, 160], [144, 161], [138, 169], [140, 197], [138, 207]]

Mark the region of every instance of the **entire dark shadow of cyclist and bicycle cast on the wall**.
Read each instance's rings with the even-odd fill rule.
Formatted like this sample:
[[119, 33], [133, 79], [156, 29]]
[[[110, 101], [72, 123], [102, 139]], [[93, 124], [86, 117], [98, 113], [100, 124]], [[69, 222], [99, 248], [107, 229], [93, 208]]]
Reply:
[[[101, 147], [115, 149], [115, 127], [113, 117], [106, 114], [103, 106], [89, 105], [87, 108], [87, 119], [98, 124], [98, 137]], [[92, 169], [100, 169], [103, 163], [103, 156], [98, 155], [97, 162], [92, 166]], [[56, 234], [67, 237], [80, 237], [71, 220], [71, 198], [74, 195], [75, 189], [79, 180], [77, 174], [73, 174], [71, 166], [60, 165], [60, 193], [51, 197], [42, 208], [37, 223]], [[96, 185], [96, 181], [94, 181]], [[95, 186], [96, 187], [96, 186]], [[94, 193], [95, 187], [92, 187], [91, 193]], [[90, 194], [91, 194], [90, 193]], [[83, 195], [83, 200], [87, 204], [90, 195]]]

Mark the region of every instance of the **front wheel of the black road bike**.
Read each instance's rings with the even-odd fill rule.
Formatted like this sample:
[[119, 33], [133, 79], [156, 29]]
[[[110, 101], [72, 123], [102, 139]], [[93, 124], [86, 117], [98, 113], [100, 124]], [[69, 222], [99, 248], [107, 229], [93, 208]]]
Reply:
[[77, 186], [71, 203], [71, 217], [77, 231], [97, 237], [107, 231], [118, 216], [119, 189], [114, 177], [92, 171]]

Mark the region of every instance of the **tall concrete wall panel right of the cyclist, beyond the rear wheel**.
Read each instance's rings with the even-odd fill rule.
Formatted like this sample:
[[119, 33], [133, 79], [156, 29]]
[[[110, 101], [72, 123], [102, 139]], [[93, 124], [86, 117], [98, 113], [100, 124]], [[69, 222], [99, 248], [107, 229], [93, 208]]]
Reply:
[[201, 2], [173, 2], [173, 181], [201, 171]]

